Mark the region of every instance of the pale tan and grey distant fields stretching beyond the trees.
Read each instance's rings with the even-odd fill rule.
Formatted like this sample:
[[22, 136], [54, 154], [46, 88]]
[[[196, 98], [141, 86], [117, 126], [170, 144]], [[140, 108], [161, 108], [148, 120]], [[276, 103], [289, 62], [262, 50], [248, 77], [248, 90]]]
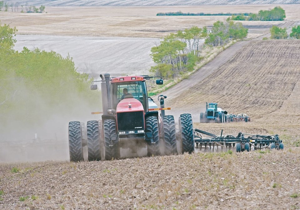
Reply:
[[[102, 1], [101, 1], [102, 2]], [[126, 1], [127, 2], [127, 1]], [[272, 25], [300, 19], [299, 5], [281, 5], [287, 21], [243, 21], [248, 38], [269, 32]], [[115, 75], [148, 74], [154, 64], [149, 56], [159, 38], [192, 26], [211, 27], [227, 16], [158, 17], [158, 12], [257, 12], [273, 5], [202, 5], [151, 7], [46, 7], [47, 13], [0, 12], [0, 20], [16, 26], [15, 49], [26, 46], [53, 50], [74, 58], [79, 72], [97, 76], [102, 72]], [[63, 37], [62, 37], [63, 36]], [[95, 37], [95, 38], [93, 38]], [[148, 39], [144, 39], [148, 38]], [[156, 41], [157, 40], [157, 41]], [[125, 72], [124, 72], [125, 70]]]

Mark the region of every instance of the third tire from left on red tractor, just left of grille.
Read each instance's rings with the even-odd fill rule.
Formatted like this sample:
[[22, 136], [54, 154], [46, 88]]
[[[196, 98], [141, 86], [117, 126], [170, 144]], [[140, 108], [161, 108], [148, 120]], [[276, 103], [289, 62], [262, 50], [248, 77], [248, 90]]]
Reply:
[[116, 134], [116, 122], [112, 119], [104, 120], [104, 148], [105, 148], [105, 160], [113, 160], [120, 158], [119, 143], [114, 143], [112, 147], [111, 136]]

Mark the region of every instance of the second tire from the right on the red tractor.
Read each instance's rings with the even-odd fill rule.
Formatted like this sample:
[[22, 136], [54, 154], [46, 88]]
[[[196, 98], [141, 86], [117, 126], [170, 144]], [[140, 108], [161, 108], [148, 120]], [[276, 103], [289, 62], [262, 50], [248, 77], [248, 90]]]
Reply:
[[173, 115], [166, 115], [163, 117], [163, 138], [165, 154], [177, 153], [176, 129]]

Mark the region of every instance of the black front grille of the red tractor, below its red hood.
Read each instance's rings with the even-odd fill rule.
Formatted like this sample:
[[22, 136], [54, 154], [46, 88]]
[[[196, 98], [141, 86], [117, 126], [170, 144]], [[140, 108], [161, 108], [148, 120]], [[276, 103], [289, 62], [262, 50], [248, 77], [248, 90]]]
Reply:
[[117, 113], [118, 130], [143, 130], [144, 113], [141, 112], [121, 112]]

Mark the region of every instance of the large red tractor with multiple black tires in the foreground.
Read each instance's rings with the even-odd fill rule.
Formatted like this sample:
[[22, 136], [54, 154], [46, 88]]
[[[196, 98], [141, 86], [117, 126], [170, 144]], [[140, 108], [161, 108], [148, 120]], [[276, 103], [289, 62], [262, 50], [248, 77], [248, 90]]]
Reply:
[[[102, 119], [88, 121], [87, 130], [84, 123], [69, 122], [70, 161], [83, 161], [84, 146], [88, 146], [89, 161], [101, 160], [101, 154], [106, 160], [121, 158], [120, 148], [138, 151], [147, 147], [148, 156], [194, 151], [191, 114], [180, 115], [176, 132], [173, 115], [164, 115], [170, 108], [148, 108], [146, 80], [153, 77], [100, 77], [95, 82], [101, 82]], [[163, 80], [157, 79], [156, 84]], [[92, 83], [91, 89], [97, 88]], [[161, 116], [158, 110], [163, 110]]]

